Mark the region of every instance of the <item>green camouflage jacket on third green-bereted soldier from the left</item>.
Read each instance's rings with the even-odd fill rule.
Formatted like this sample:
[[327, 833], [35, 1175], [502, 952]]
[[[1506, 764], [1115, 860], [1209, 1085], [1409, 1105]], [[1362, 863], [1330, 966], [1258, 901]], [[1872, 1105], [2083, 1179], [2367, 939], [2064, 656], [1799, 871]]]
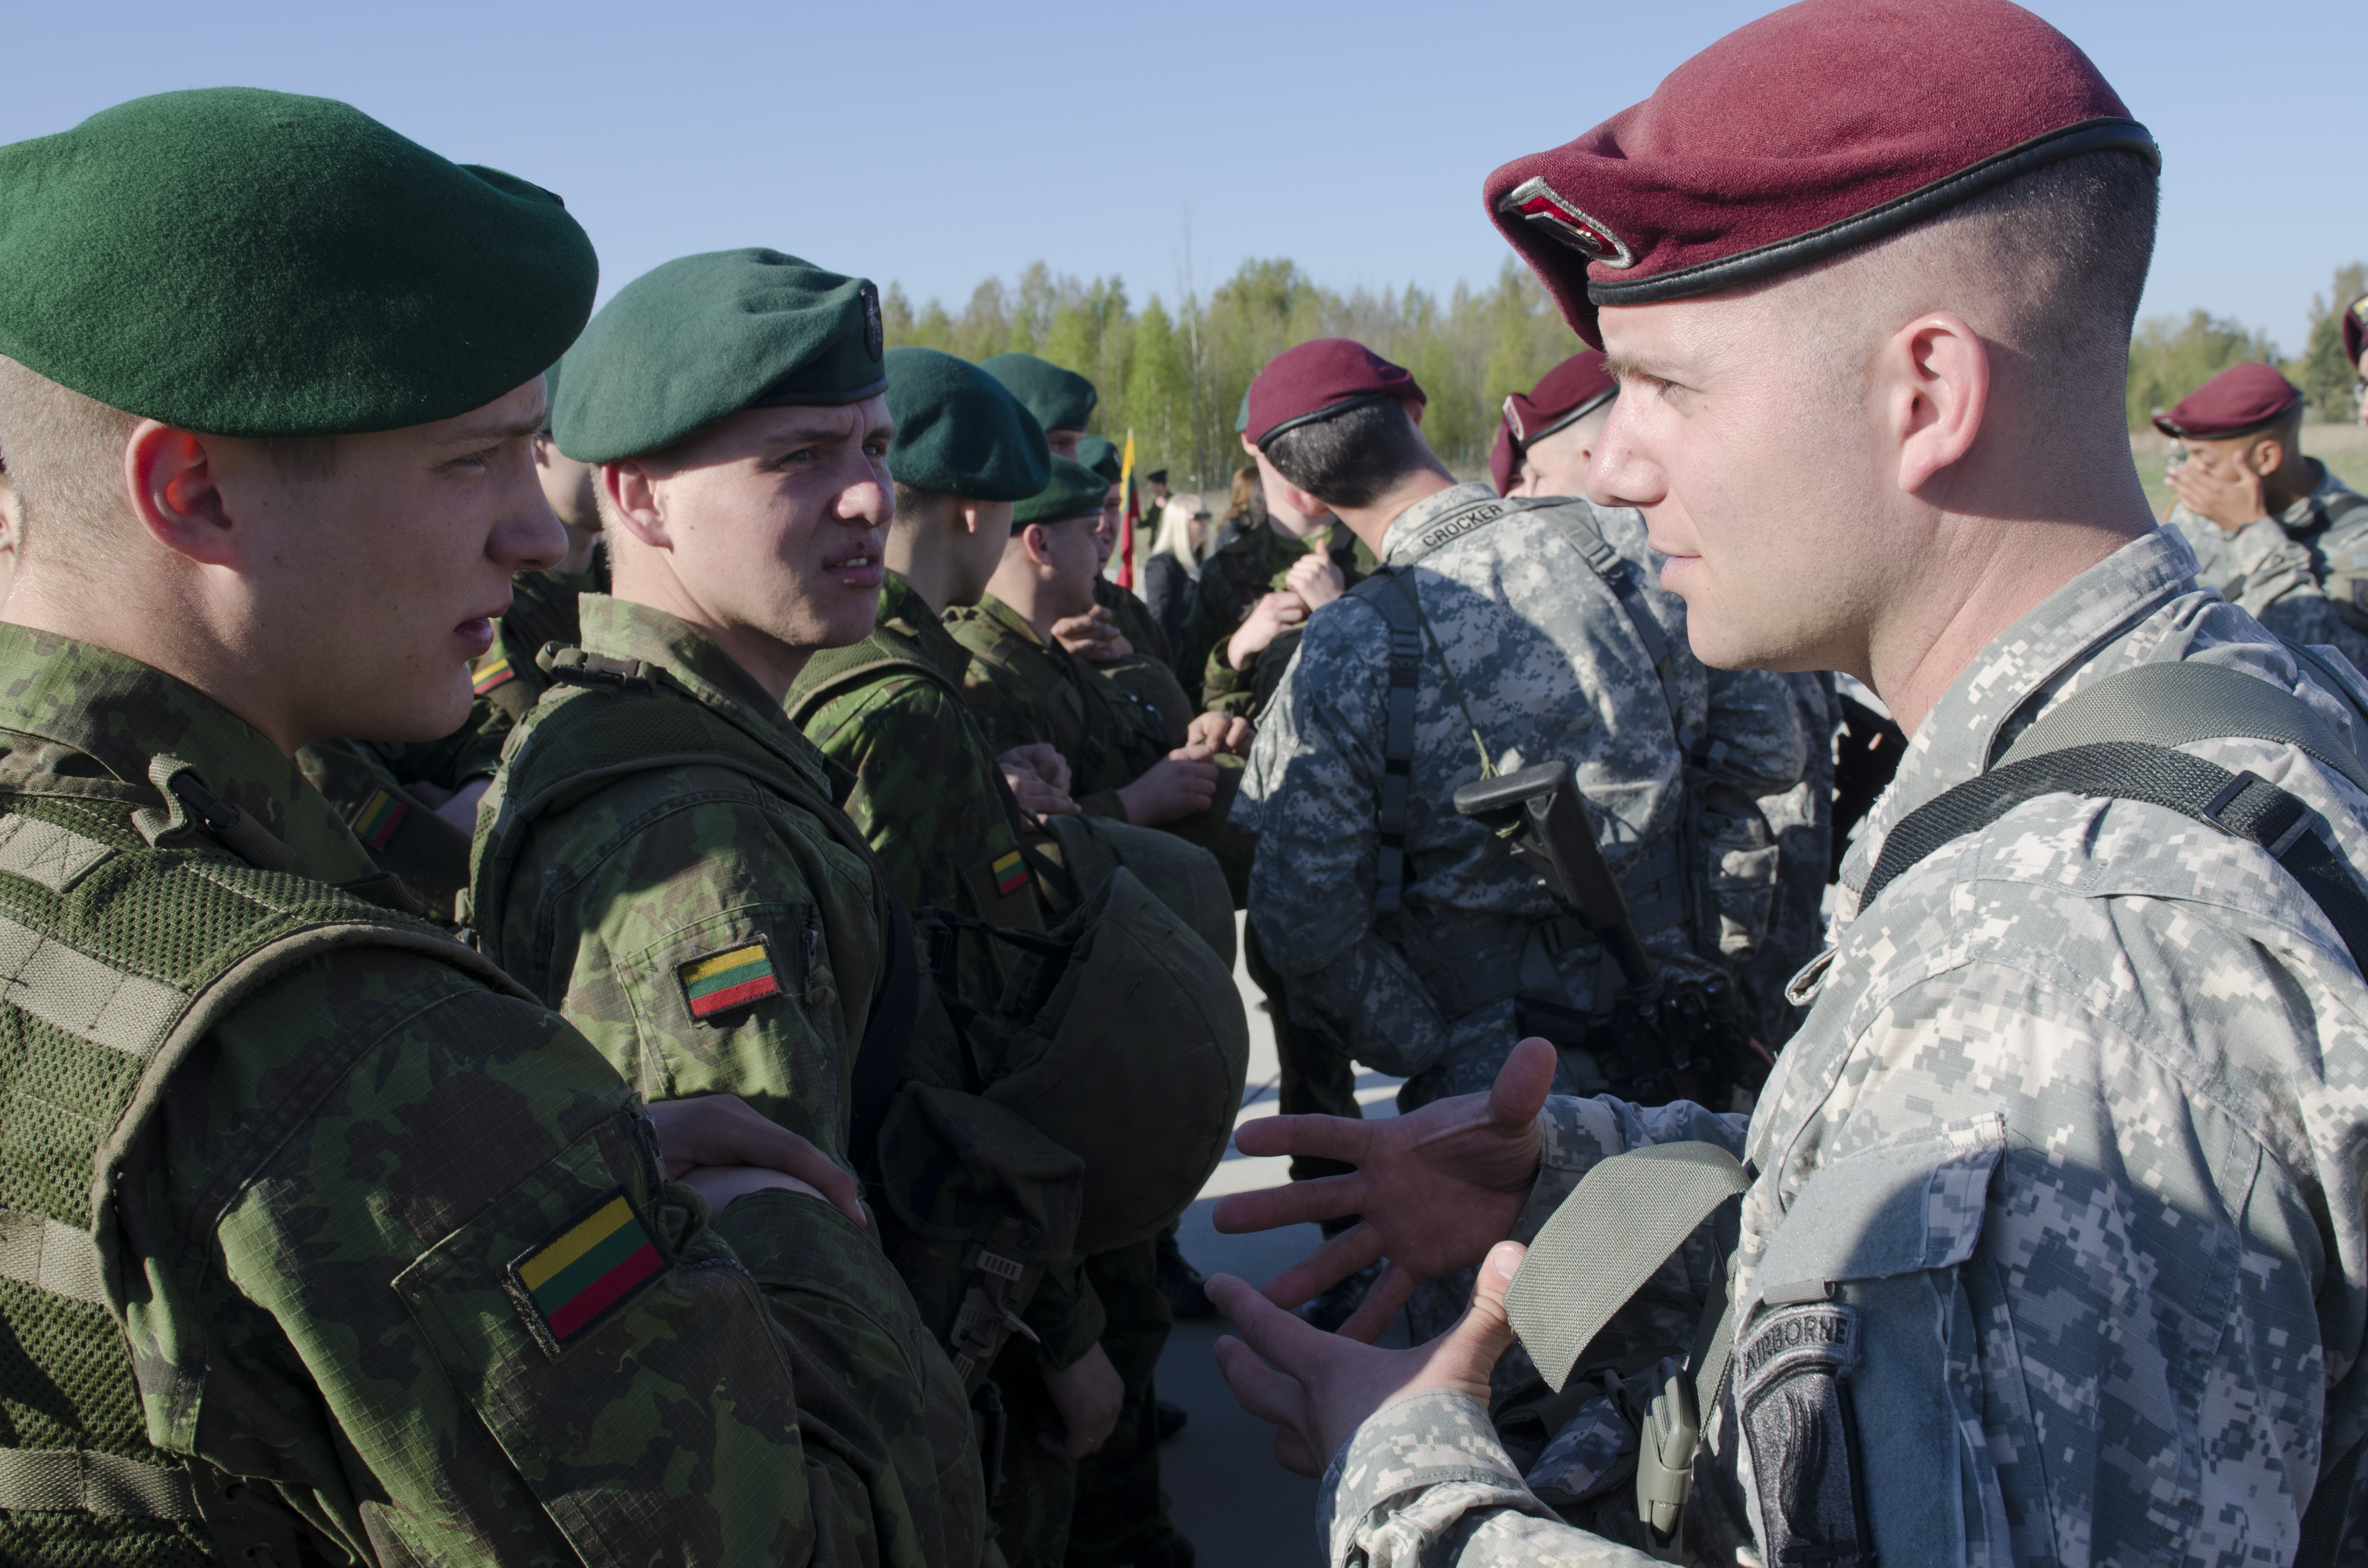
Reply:
[[[1021, 855], [1025, 824], [961, 701], [969, 663], [921, 595], [890, 571], [876, 630], [817, 654], [791, 689], [789, 713], [855, 777], [841, 803], [909, 907], [1042, 931]], [[1002, 947], [966, 931], [954, 950], [961, 995], [980, 1004], [1002, 995]]]

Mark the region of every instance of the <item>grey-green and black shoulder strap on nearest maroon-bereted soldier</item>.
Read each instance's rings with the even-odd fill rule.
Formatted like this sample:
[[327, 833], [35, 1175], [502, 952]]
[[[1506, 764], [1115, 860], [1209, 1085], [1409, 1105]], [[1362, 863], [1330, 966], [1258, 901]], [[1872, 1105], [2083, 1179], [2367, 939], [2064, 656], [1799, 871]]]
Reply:
[[[2143, 739], [2096, 739], [2103, 734]], [[2368, 777], [2318, 715], [2278, 687], [2219, 666], [2138, 666], [2070, 696], [2032, 725], [2003, 763], [1925, 801], [1892, 827], [1859, 907], [1871, 907], [1883, 888], [1944, 843], [1989, 827], [2025, 801], [2051, 793], [2143, 801], [2269, 850], [2368, 973], [2368, 893], [2311, 831], [2316, 812], [2252, 772], [2228, 772], [2174, 751], [2219, 737], [2283, 741], [2354, 784]]]

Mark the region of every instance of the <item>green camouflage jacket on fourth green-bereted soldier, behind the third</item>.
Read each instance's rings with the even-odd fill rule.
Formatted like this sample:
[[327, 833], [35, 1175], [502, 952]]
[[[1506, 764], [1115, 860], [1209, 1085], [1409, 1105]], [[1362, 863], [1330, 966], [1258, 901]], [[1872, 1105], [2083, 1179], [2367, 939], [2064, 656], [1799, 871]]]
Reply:
[[[969, 651], [961, 694], [987, 748], [1002, 756], [1047, 741], [1068, 758], [1077, 810], [1125, 820], [1118, 789], [1184, 744], [1182, 692], [1167, 703], [1137, 696], [1037, 637], [1028, 618], [995, 595], [945, 611], [945, 630]], [[1167, 687], [1175, 687], [1172, 675]]]

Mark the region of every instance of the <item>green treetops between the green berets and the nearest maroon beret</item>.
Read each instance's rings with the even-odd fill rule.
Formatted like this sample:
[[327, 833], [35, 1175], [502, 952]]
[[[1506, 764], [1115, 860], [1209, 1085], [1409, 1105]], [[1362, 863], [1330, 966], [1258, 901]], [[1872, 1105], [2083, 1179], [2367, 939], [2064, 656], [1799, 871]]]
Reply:
[[1094, 431], [1134, 431], [1137, 462], [1170, 469], [1177, 488], [1224, 488], [1241, 462], [1234, 417], [1267, 360], [1314, 336], [1352, 336], [1414, 372], [1430, 396], [1423, 431], [1456, 471], [1487, 464], [1506, 393], [1527, 391], [1579, 351], [1546, 291], [1516, 261], [1494, 287], [1440, 298], [1416, 287], [1336, 294], [1291, 261], [1246, 261], [1210, 296], [1130, 308], [1115, 277], [1085, 284], [1030, 265], [1016, 284], [987, 279], [961, 315], [938, 301], [914, 310], [890, 284], [888, 346], [966, 360], [1021, 351], [1089, 377], [1101, 391]]

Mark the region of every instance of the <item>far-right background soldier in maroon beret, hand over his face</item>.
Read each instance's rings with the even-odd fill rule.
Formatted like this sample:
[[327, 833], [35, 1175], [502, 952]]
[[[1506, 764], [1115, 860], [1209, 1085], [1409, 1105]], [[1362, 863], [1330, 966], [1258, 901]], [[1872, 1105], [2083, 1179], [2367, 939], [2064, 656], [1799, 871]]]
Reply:
[[2231, 365], [2155, 415], [2179, 441], [2164, 526], [2195, 580], [2287, 642], [2368, 668], [2368, 500], [2302, 455], [2302, 388], [2271, 365]]

